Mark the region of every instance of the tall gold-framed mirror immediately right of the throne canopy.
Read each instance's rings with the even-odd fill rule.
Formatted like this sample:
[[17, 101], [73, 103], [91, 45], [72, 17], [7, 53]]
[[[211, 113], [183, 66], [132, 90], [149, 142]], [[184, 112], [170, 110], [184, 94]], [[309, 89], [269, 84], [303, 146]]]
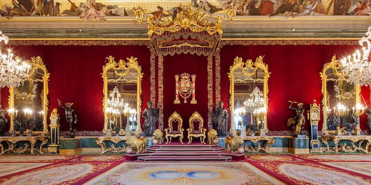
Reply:
[[230, 132], [253, 128], [253, 134], [267, 134], [268, 66], [259, 56], [255, 62], [236, 57], [230, 67]]

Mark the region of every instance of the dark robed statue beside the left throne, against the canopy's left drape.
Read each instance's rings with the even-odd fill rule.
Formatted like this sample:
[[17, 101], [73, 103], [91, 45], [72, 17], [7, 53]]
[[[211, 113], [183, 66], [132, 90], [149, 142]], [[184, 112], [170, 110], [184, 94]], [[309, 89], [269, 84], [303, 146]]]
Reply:
[[152, 102], [147, 103], [148, 108], [143, 111], [143, 118], [144, 118], [144, 136], [152, 136], [156, 122], [158, 121], [158, 112], [160, 111], [159, 108], [153, 109]]

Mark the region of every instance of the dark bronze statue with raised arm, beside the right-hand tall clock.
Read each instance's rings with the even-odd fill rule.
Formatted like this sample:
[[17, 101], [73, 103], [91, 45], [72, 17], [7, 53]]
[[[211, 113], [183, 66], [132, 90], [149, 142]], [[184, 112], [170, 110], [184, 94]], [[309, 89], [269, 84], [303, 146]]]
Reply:
[[[287, 126], [293, 125], [294, 129], [294, 135], [300, 135], [301, 130], [304, 128], [305, 123], [305, 117], [304, 117], [304, 108], [303, 103], [297, 103], [297, 102], [290, 102], [290, 105], [288, 106], [288, 109], [294, 110], [296, 115], [294, 118], [290, 118], [287, 120]], [[292, 107], [292, 104], [296, 103], [296, 108]]]

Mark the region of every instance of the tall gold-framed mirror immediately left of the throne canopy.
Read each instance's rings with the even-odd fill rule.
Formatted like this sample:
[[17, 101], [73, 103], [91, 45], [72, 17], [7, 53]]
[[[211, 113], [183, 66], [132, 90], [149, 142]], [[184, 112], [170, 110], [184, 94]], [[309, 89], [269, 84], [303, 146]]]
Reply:
[[103, 67], [103, 112], [105, 135], [141, 133], [141, 67], [137, 58], [118, 62], [107, 57]]

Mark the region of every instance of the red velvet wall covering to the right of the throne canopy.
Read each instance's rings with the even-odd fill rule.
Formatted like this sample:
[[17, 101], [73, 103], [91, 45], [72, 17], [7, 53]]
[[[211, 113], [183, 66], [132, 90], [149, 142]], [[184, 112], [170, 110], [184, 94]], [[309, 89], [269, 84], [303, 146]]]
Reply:
[[[271, 72], [269, 77], [269, 110], [268, 129], [272, 131], [290, 130], [286, 121], [294, 115], [288, 109], [288, 101], [302, 102], [308, 110], [313, 99], [320, 104], [322, 101], [320, 72], [323, 65], [331, 61], [333, 54], [338, 59], [355, 51], [357, 46], [346, 45], [253, 45], [253, 46], [224, 46], [221, 49], [221, 100], [229, 102], [229, 67], [235, 56], [243, 61], [259, 55], [268, 64]], [[370, 105], [370, 88], [361, 90], [366, 103]], [[321, 106], [322, 107], [322, 106]], [[322, 108], [321, 108], [322, 109]], [[321, 115], [322, 118], [322, 115]], [[306, 122], [308, 124], [308, 122]], [[366, 114], [361, 117], [361, 129], [366, 130]], [[308, 130], [308, 125], [305, 130]], [[319, 130], [322, 129], [322, 121]]]

